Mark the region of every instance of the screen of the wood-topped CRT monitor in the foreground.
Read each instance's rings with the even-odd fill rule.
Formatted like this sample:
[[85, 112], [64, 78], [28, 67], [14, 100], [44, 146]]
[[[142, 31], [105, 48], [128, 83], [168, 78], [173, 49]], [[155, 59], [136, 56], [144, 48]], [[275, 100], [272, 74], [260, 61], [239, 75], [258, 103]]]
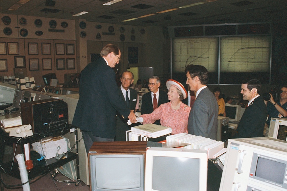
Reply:
[[144, 185], [144, 155], [94, 156], [95, 190], [140, 190]]

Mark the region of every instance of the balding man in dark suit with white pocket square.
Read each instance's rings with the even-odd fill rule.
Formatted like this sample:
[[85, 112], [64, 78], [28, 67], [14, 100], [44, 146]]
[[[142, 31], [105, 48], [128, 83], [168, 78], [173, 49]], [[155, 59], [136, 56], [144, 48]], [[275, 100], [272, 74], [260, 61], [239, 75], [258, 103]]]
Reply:
[[[123, 72], [121, 75], [121, 86], [118, 88], [118, 93], [127, 103], [130, 110], [136, 111], [138, 109], [138, 96], [137, 91], [129, 88], [133, 83], [133, 73], [129, 71]], [[134, 125], [134, 124], [133, 124]], [[139, 124], [140, 125], [140, 124]], [[131, 130], [131, 126], [127, 124], [127, 119], [117, 116], [117, 133], [115, 141], [125, 141], [125, 132]]]

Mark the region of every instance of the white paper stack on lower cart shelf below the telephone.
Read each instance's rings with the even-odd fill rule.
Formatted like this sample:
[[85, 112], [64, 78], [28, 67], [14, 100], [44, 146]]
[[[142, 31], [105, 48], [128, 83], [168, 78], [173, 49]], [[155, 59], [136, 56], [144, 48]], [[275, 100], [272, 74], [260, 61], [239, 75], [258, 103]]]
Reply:
[[32, 143], [32, 146], [37, 153], [45, 155], [45, 159], [51, 159], [53, 157], [56, 157], [58, 146], [61, 147], [58, 152], [59, 155], [68, 152], [68, 145], [65, 137], [60, 137], [56, 139], [48, 138], [46, 140], [43, 140], [42, 144], [41, 141], [39, 141]]

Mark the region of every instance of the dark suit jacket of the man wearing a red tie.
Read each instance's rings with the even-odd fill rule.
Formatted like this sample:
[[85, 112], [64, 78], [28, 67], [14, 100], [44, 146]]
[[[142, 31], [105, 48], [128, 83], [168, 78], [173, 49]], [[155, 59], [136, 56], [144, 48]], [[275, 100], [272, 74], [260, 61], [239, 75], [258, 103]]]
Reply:
[[[141, 100], [141, 115], [142, 114], [149, 114], [154, 111], [154, 106], [152, 105], [152, 92], [148, 92], [143, 95], [142, 100]], [[158, 94], [158, 107], [160, 104], [167, 103], [169, 102], [167, 93], [164, 91], [159, 92]], [[154, 124], [160, 125], [160, 120], [157, 120], [154, 122]]]

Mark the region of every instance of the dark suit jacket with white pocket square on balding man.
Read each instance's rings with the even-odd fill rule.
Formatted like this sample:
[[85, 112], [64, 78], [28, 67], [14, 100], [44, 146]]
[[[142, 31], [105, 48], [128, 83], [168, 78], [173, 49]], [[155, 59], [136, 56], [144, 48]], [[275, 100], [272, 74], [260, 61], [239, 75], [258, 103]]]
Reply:
[[[137, 91], [132, 88], [129, 88], [129, 90], [130, 90], [129, 109], [135, 111], [135, 106], [137, 105]], [[125, 101], [125, 95], [123, 95], [121, 87], [119, 87], [118, 93], [123, 99], [123, 101]], [[116, 132], [115, 141], [125, 141], [125, 132], [127, 130], [131, 130], [131, 127], [132, 127], [132, 125], [129, 126], [127, 124], [127, 120], [128, 120], [127, 118], [123, 119], [119, 115], [117, 116], [117, 132]]]

